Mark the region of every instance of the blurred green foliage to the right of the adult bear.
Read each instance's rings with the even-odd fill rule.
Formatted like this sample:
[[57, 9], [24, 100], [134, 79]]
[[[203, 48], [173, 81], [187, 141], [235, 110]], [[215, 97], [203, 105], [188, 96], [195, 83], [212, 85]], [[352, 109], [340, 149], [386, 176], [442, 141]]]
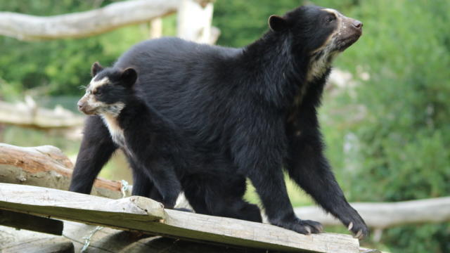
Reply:
[[[349, 10], [364, 21], [364, 36], [337, 65], [357, 75], [354, 63], [359, 63], [371, 74], [368, 81], [359, 80], [356, 96], [333, 102], [367, 109], [361, 122], [340, 129], [341, 147], [344, 136], [356, 136], [353, 153], [333, 150], [334, 157], [352, 155], [356, 164], [347, 177], [351, 183], [344, 183], [352, 200], [450, 195], [450, 15], [444, 11], [449, 9], [449, 1], [361, 1]], [[338, 136], [331, 127], [326, 134]], [[449, 252], [448, 227], [392, 228], [383, 239], [393, 252]]]

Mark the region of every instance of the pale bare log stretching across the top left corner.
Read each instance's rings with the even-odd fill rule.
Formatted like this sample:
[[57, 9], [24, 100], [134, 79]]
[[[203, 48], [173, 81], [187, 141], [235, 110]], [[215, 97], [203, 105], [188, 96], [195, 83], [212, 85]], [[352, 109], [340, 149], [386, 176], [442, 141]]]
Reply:
[[150, 22], [176, 12], [180, 3], [181, 0], [121, 1], [92, 11], [50, 17], [0, 12], [0, 34], [20, 40], [88, 37]]

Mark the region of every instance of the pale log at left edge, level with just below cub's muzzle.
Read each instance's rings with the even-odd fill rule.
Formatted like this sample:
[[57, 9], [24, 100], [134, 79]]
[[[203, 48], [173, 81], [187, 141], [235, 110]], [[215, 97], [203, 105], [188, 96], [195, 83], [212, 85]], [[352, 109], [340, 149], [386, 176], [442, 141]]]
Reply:
[[30, 97], [25, 99], [25, 103], [0, 101], [0, 122], [4, 124], [36, 129], [71, 129], [81, 127], [84, 118], [60, 106], [53, 110], [39, 108]]

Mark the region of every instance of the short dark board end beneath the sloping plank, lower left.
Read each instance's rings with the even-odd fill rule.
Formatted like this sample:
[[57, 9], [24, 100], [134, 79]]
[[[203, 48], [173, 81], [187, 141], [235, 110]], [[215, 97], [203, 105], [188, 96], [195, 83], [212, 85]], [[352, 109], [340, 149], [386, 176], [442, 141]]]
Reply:
[[52, 235], [63, 234], [63, 221], [6, 210], [0, 210], [0, 225]]

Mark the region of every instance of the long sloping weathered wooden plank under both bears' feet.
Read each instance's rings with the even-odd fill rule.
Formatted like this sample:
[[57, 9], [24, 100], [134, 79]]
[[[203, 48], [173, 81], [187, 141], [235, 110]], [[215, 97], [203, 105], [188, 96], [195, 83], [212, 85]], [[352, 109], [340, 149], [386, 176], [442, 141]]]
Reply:
[[0, 183], [0, 209], [239, 247], [287, 252], [359, 252], [358, 240], [350, 235], [301, 235], [269, 224], [164, 210], [160, 203], [145, 197], [108, 200]]

